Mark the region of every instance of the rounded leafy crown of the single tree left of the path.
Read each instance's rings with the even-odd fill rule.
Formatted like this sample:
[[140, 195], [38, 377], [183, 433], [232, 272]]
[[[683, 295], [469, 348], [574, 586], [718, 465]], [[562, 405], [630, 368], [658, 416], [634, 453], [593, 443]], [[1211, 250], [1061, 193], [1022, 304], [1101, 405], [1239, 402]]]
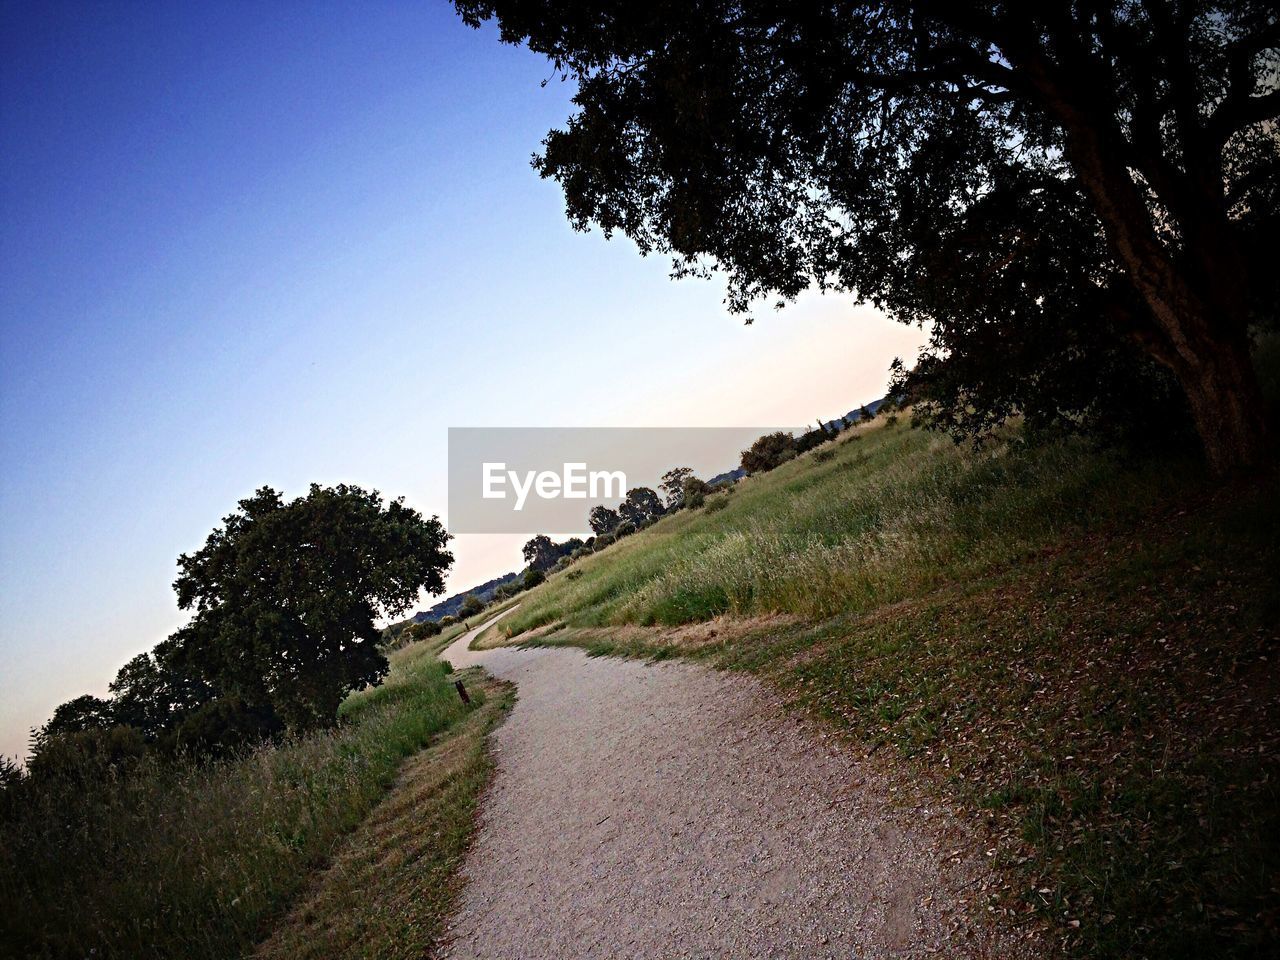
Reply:
[[374, 620], [439, 594], [448, 534], [403, 500], [312, 484], [285, 503], [262, 488], [178, 558], [175, 660], [224, 696], [270, 707], [288, 727], [335, 722], [349, 690], [379, 682], [387, 658]]

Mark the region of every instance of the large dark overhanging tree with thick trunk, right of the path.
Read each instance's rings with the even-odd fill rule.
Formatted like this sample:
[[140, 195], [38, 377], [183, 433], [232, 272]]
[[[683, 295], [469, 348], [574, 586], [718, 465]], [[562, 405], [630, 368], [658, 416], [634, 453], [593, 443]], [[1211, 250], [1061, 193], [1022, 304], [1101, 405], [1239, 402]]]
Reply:
[[1216, 468], [1267, 456], [1274, 3], [456, 5], [576, 82], [535, 161], [576, 227], [723, 269], [735, 308], [817, 284], [932, 321], [934, 357], [1028, 365], [1014, 406], [1138, 348]]

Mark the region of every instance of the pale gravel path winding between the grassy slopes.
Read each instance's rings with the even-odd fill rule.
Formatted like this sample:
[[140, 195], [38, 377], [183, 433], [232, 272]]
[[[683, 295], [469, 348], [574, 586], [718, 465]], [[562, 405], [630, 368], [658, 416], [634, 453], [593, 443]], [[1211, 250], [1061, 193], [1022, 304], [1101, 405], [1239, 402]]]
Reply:
[[945, 809], [758, 682], [571, 649], [467, 649], [517, 685], [452, 957], [1019, 956], [966, 922], [989, 879]]

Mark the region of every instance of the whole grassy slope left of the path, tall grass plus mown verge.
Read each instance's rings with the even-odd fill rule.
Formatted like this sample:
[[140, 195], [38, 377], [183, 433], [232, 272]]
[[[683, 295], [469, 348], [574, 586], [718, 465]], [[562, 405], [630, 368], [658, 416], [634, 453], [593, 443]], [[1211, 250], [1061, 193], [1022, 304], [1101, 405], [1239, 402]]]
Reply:
[[[332, 732], [241, 759], [145, 759], [109, 782], [28, 782], [0, 794], [6, 954], [244, 956], [278, 927], [262, 952], [300, 956], [300, 931], [321, 927], [326, 956], [351, 945], [337, 931], [358, 932], [356, 945], [380, 956], [421, 955], [452, 896], [449, 870], [488, 772], [484, 731], [509, 701], [504, 687], [467, 673], [472, 703], [463, 707], [434, 653], [428, 644], [396, 652], [387, 682], [348, 698]], [[419, 753], [433, 742], [440, 746]], [[365, 872], [365, 914], [348, 909], [342, 883], [361, 876], [344, 852], [357, 828], [379, 863], [416, 850], [404, 869]], [[348, 868], [314, 878], [334, 855]], [[398, 884], [413, 884], [413, 896]], [[303, 891], [310, 909], [278, 924]], [[387, 942], [370, 941], [376, 932]]]

